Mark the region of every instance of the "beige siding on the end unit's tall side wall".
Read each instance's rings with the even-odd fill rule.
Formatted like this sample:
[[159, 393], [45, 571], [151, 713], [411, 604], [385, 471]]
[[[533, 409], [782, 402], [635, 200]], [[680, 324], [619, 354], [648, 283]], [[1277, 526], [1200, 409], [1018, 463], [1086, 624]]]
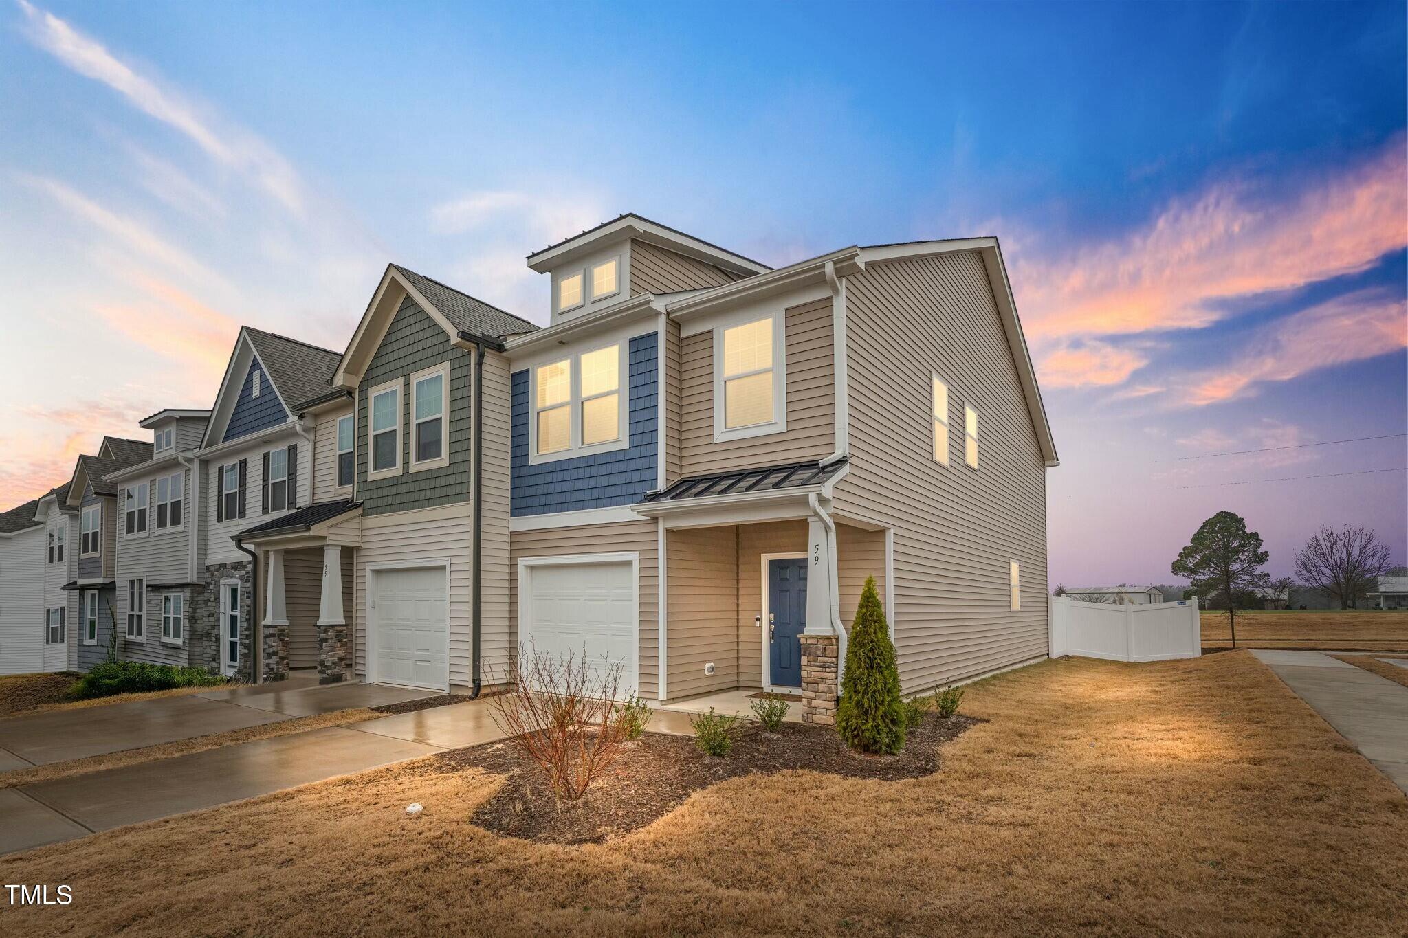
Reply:
[[[895, 644], [907, 692], [1046, 654], [1046, 477], [976, 253], [876, 263], [848, 280], [850, 473], [838, 512], [894, 527]], [[931, 371], [950, 426], [980, 415], [980, 465], [932, 458]], [[1022, 610], [1008, 564], [1022, 564]]]

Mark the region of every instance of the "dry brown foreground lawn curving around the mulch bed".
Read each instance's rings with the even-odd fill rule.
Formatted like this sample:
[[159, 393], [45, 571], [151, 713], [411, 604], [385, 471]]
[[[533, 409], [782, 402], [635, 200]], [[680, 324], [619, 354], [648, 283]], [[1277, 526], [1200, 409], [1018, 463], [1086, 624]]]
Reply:
[[[1247, 653], [1050, 661], [910, 780], [724, 782], [558, 847], [439, 757], [0, 859], [8, 934], [1401, 934], [1408, 799]], [[408, 817], [420, 802], [425, 811]]]

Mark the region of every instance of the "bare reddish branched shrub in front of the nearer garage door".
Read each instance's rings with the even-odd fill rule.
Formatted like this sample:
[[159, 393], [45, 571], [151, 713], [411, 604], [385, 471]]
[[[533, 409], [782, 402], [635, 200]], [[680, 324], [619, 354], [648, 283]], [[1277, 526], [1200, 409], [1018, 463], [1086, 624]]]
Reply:
[[582, 797], [621, 751], [625, 731], [612, 719], [621, 662], [596, 667], [586, 651], [565, 655], [520, 645], [508, 665], [510, 690], [490, 699], [490, 716], [542, 769], [553, 795]]

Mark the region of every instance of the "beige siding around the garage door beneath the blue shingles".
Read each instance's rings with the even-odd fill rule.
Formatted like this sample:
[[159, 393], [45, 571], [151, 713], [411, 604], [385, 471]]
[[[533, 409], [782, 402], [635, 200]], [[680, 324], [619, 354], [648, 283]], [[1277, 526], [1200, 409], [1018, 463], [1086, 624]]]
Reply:
[[[659, 658], [658, 619], [659, 608], [659, 553], [656, 522], [620, 522], [614, 525], [593, 525], [586, 527], [553, 527], [546, 530], [514, 532], [510, 561], [513, 577], [508, 585], [510, 622], [513, 643], [518, 641], [518, 560], [521, 557], [553, 557], [560, 554], [618, 554], [635, 551], [639, 555], [639, 598], [638, 624], [641, 631], [638, 693], [642, 699], [655, 699], [658, 693], [656, 674]], [[487, 678], [486, 678], [487, 683]], [[673, 690], [670, 692], [673, 695]]]

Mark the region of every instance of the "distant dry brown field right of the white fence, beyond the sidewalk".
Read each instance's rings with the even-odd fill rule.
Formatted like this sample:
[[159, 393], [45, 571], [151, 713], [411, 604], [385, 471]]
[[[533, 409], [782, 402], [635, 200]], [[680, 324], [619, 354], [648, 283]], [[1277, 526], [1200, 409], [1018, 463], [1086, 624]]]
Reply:
[[[1408, 651], [1408, 610], [1239, 612], [1238, 647]], [[1202, 647], [1231, 648], [1225, 612], [1202, 613]]]

